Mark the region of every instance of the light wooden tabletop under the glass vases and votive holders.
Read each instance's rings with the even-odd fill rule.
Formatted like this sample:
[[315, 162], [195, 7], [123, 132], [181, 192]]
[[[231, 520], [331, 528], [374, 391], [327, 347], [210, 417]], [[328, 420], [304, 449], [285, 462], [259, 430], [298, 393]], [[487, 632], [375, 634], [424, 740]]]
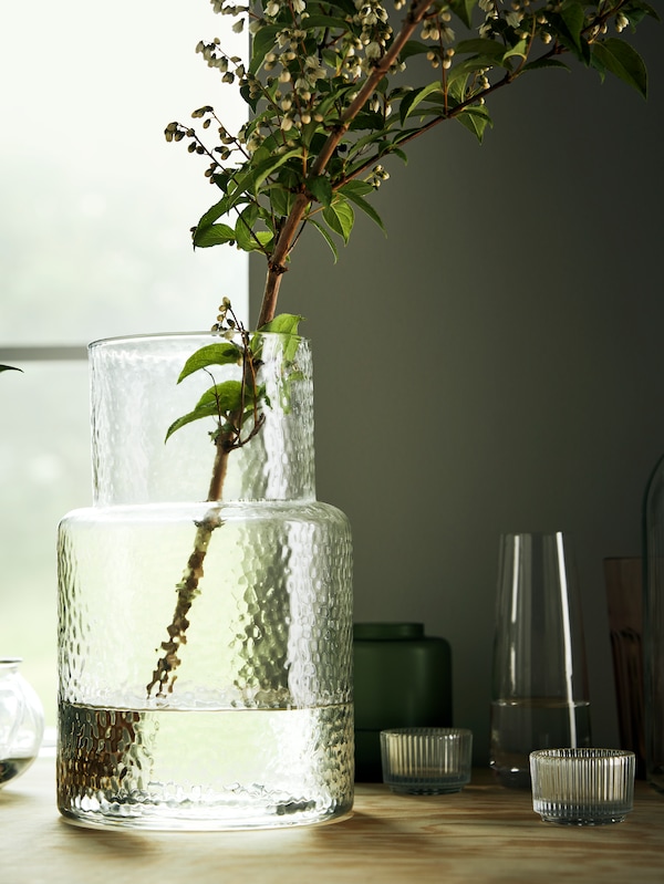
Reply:
[[0, 791], [0, 884], [422, 884], [664, 882], [664, 795], [636, 783], [623, 823], [543, 823], [530, 794], [488, 771], [453, 795], [402, 797], [359, 784], [353, 814], [310, 828], [163, 833], [81, 829], [54, 802], [40, 758]]

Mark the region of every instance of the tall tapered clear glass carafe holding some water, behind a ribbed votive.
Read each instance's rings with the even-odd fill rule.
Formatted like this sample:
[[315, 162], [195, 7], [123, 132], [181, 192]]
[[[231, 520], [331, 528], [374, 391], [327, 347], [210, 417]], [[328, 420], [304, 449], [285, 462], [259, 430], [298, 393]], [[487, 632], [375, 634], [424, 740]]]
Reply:
[[571, 538], [560, 531], [504, 534], [490, 766], [500, 784], [530, 789], [530, 752], [589, 746], [585, 642]]

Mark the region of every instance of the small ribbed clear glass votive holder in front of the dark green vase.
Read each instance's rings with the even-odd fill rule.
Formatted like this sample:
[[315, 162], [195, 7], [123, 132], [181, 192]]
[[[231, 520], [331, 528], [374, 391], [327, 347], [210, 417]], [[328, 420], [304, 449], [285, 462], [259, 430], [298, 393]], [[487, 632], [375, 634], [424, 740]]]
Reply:
[[464, 728], [381, 731], [383, 781], [393, 792], [437, 795], [470, 782], [473, 734]]

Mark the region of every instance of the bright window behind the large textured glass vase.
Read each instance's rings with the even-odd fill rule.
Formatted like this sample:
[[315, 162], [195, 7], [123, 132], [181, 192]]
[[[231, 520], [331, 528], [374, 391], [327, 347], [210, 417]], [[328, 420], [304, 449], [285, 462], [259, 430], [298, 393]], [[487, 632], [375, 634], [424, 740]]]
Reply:
[[[243, 114], [195, 46], [245, 38], [206, 0], [13, 4], [0, 33], [0, 593], [2, 654], [55, 720], [55, 532], [91, 503], [85, 344], [247, 315], [248, 264], [193, 251], [205, 163], [163, 131], [201, 104]], [[220, 97], [222, 96], [222, 97]]]

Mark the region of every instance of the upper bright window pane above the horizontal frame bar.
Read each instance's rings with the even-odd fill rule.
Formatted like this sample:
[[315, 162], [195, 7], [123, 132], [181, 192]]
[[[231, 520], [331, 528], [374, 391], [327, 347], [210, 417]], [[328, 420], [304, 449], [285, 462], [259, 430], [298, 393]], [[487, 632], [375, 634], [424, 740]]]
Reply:
[[195, 53], [214, 37], [241, 53], [207, 0], [35, 0], [4, 17], [0, 343], [205, 329], [222, 295], [240, 306], [246, 256], [190, 245], [215, 200], [206, 163], [163, 134], [206, 103], [228, 127], [243, 118]]

